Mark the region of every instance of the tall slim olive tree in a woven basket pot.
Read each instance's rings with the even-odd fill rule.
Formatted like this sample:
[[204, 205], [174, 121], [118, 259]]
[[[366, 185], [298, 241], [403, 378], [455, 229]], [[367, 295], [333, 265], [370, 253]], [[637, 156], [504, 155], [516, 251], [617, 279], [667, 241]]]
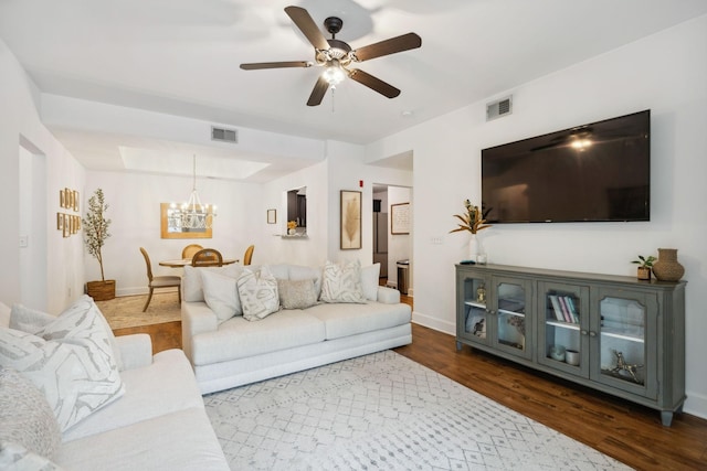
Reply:
[[106, 220], [105, 213], [108, 204], [105, 202], [103, 190], [97, 189], [93, 196], [88, 199], [88, 210], [82, 225], [84, 229], [84, 242], [88, 254], [96, 257], [101, 266], [101, 281], [88, 281], [86, 293], [95, 301], [107, 301], [115, 298], [115, 280], [106, 280], [103, 271], [102, 248], [106, 239], [110, 237], [108, 227], [110, 220]]

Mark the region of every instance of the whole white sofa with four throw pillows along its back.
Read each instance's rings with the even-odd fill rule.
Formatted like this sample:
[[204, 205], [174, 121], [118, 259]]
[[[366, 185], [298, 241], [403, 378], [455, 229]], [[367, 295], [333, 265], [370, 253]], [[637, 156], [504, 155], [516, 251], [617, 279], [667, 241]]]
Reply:
[[186, 267], [182, 349], [201, 392], [411, 343], [410, 306], [378, 286], [379, 271], [356, 263]]

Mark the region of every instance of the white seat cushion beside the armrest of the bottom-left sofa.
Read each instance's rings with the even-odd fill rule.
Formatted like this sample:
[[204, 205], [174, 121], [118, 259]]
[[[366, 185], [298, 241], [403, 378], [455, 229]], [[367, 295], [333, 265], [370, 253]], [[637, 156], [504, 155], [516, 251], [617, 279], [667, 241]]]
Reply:
[[149, 366], [122, 374], [125, 395], [86, 417], [64, 436], [64, 442], [137, 424], [177, 410], [203, 407], [191, 365], [181, 350], [157, 353]]

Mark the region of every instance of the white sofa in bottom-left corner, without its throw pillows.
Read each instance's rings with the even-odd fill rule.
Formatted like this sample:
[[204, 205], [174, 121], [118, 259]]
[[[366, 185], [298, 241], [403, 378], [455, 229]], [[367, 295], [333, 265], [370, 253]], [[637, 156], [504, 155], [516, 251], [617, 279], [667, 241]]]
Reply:
[[[8, 315], [0, 315], [0, 329], [11, 330], [8, 325]], [[228, 470], [183, 352], [152, 355], [147, 334], [115, 341], [125, 393], [65, 430], [49, 458], [54, 468], [41, 469]], [[0, 450], [0, 461], [7, 454]], [[28, 462], [8, 469], [27, 469]], [[0, 468], [6, 469], [1, 462]]]

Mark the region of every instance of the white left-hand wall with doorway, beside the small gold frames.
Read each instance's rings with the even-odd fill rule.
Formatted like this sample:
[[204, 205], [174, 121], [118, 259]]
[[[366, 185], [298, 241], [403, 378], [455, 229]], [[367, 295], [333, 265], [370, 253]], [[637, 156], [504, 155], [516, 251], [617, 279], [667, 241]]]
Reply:
[[[3, 205], [1, 211], [6, 229], [0, 232], [0, 301], [11, 306], [19, 302], [23, 291], [20, 267], [20, 158], [39, 156], [38, 162], [46, 174], [42, 223], [32, 227], [44, 234], [29, 234], [30, 244], [45, 240], [46, 247], [39, 250], [44, 260], [34, 260], [36, 266], [45, 266], [46, 272], [40, 280], [46, 289], [46, 297], [33, 308], [60, 312], [67, 302], [77, 297], [83, 285], [83, 244], [78, 236], [64, 238], [56, 229], [59, 191], [65, 186], [80, 189], [84, 185], [83, 168], [64, 150], [40, 120], [38, 113], [39, 92], [18, 63], [14, 55], [0, 40], [0, 188]], [[34, 167], [36, 169], [36, 167]], [[41, 180], [33, 178], [34, 181]], [[25, 185], [24, 188], [31, 188]], [[25, 195], [27, 197], [28, 195]], [[27, 201], [27, 200], [25, 200]], [[14, 227], [14, 228], [12, 228]], [[51, 275], [50, 275], [51, 274]], [[28, 292], [27, 287], [24, 289]], [[30, 290], [31, 291], [31, 290]]]

